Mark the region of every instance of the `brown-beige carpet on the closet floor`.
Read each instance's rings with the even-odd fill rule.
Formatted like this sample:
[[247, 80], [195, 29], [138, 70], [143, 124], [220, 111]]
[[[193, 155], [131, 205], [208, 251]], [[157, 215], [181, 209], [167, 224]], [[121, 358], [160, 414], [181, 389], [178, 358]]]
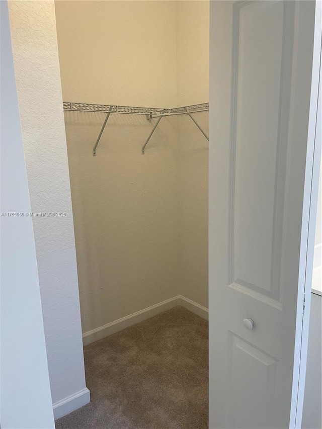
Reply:
[[56, 429], [207, 429], [208, 323], [176, 307], [85, 347], [92, 402]]

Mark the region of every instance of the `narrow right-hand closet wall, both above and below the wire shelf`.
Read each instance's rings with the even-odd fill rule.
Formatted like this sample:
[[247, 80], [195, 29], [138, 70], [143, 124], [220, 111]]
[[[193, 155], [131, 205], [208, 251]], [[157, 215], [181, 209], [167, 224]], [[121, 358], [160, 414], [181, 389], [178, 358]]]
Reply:
[[[209, 101], [209, 2], [177, 4], [178, 105]], [[194, 117], [208, 134], [208, 112]], [[178, 118], [181, 293], [208, 307], [208, 141]]]

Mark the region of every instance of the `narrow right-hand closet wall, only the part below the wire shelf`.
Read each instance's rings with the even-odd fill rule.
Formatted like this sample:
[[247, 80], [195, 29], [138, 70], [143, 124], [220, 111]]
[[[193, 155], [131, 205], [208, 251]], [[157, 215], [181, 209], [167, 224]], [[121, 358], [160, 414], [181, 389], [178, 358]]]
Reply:
[[[193, 116], [209, 134], [208, 112]], [[178, 119], [181, 294], [208, 308], [208, 141]]]

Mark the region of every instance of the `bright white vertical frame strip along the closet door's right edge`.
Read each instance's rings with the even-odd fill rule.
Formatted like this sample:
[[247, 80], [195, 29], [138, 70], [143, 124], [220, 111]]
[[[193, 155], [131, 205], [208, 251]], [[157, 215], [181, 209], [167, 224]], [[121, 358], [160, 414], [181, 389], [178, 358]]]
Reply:
[[314, 240], [317, 212], [318, 182], [322, 137], [322, 1], [315, 1], [313, 63], [307, 152], [304, 182], [304, 200], [301, 231], [300, 267], [296, 323], [301, 335], [295, 338], [293, 387], [290, 427], [301, 428], [304, 403], [308, 330], [311, 304]]

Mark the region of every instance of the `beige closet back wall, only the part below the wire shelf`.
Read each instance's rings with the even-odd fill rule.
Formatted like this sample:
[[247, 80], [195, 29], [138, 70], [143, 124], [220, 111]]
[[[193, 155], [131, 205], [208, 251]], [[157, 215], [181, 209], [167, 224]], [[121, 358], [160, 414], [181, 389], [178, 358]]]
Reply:
[[[83, 331], [179, 294], [174, 121], [65, 112]], [[174, 118], [176, 119], [176, 118]]]

